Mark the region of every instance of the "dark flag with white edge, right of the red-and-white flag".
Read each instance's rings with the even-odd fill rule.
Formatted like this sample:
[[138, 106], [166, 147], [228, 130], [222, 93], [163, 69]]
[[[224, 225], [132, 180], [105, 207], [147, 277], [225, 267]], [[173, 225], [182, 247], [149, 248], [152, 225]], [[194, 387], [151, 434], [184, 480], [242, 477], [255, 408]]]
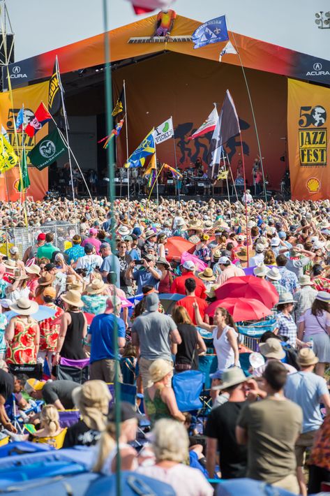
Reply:
[[218, 158], [220, 147], [225, 145], [230, 138], [236, 136], [240, 131], [239, 116], [237, 115], [232, 95], [227, 89], [223, 107], [216, 123], [216, 129], [214, 129], [211, 139], [210, 155], [212, 164], [218, 163], [215, 160]]

